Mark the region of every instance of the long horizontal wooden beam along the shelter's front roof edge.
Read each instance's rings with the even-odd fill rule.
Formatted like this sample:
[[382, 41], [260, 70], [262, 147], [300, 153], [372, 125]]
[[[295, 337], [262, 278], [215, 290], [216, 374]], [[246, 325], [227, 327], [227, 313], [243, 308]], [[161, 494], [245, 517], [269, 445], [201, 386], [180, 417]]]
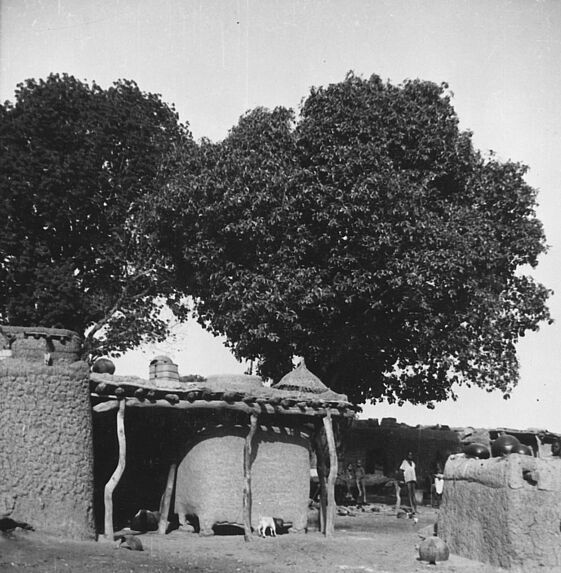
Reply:
[[[98, 396], [92, 394], [94, 398], [105, 398], [106, 401], [100, 402], [93, 407], [94, 412], [108, 412], [118, 407], [118, 401], [113, 396]], [[139, 400], [138, 398], [127, 397], [124, 398], [127, 402], [127, 407], [130, 408], [175, 408], [176, 410], [216, 410], [227, 409], [245, 412], [247, 414], [282, 414], [282, 415], [297, 415], [297, 416], [325, 416], [327, 412], [331, 416], [344, 416], [354, 418], [352, 410], [346, 410], [341, 413], [337, 408], [305, 408], [301, 409], [296, 406], [291, 408], [282, 408], [272, 404], [255, 403], [253, 405], [246, 404], [245, 402], [228, 403], [225, 400], [195, 400], [189, 402], [187, 400], [179, 400], [176, 404], [170, 404], [168, 400], [157, 399], [154, 401]]]

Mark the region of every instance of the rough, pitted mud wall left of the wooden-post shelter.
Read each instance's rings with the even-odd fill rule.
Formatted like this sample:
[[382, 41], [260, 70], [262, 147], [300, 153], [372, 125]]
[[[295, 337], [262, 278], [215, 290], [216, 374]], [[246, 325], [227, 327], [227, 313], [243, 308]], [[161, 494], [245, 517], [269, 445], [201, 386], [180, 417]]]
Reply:
[[88, 380], [83, 362], [0, 361], [0, 515], [94, 537]]

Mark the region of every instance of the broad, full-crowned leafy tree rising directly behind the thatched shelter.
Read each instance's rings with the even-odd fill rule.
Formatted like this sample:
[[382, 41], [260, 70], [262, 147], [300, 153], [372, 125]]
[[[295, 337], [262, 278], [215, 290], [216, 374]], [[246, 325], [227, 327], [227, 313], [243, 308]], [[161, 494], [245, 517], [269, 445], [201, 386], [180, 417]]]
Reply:
[[293, 355], [358, 402], [517, 383], [549, 321], [526, 167], [485, 157], [446, 85], [377, 76], [256, 109], [168, 187], [161, 242], [200, 322], [278, 379]]

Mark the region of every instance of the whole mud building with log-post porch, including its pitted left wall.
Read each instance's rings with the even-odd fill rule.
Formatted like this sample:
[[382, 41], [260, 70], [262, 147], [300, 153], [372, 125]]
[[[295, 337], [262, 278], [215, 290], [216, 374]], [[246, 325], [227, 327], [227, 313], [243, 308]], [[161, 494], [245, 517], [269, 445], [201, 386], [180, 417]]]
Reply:
[[90, 373], [70, 331], [2, 334], [1, 514], [74, 538], [112, 539], [140, 508], [160, 511], [162, 533], [175, 513], [202, 534], [227, 523], [247, 536], [261, 515], [304, 531], [313, 450], [333, 531], [335, 441], [355, 408], [303, 363], [274, 387], [182, 382], [165, 360], [145, 380]]

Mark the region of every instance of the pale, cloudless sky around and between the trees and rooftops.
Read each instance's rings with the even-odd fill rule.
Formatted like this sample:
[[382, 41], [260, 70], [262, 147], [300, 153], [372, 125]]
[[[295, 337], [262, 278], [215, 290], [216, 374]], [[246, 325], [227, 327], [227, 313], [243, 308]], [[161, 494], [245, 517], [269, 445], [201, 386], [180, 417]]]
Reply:
[[[247, 109], [297, 108], [311, 86], [349, 70], [448, 82], [476, 146], [531, 168], [551, 246], [535, 276], [558, 293], [557, 323], [519, 345], [509, 401], [466, 390], [432, 411], [379, 405], [364, 415], [561, 432], [560, 30], [557, 0], [0, 0], [0, 99], [50, 72], [104, 87], [129, 78], [174, 103], [196, 138], [217, 140]], [[147, 377], [155, 352], [182, 374], [245, 368], [190, 324], [177, 342], [118, 360], [118, 373]]]

